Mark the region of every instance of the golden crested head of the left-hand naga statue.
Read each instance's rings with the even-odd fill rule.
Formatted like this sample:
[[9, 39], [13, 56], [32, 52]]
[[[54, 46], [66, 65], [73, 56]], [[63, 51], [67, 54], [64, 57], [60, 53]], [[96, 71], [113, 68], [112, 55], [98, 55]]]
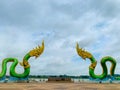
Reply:
[[42, 46], [38, 45], [38, 47], [31, 50], [29, 53], [31, 57], [35, 56], [35, 58], [37, 58], [43, 53], [43, 51], [44, 51], [44, 41], [42, 42]]

